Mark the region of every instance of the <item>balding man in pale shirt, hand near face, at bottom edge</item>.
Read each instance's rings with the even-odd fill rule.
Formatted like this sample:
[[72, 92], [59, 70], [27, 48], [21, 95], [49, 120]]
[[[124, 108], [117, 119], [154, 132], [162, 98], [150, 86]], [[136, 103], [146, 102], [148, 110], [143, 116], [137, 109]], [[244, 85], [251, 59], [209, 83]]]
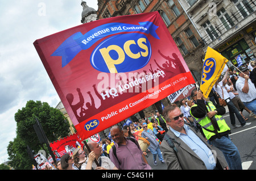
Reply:
[[[89, 153], [89, 155], [86, 162], [82, 164], [81, 170], [118, 170], [117, 167], [115, 167], [114, 163], [110, 161], [108, 157], [101, 156], [102, 148], [99, 144], [97, 144], [97, 142], [91, 141], [87, 144], [91, 152], [89, 153], [89, 151], [84, 148], [86, 153]], [[100, 164], [99, 167], [97, 167], [94, 159], [96, 159]]]

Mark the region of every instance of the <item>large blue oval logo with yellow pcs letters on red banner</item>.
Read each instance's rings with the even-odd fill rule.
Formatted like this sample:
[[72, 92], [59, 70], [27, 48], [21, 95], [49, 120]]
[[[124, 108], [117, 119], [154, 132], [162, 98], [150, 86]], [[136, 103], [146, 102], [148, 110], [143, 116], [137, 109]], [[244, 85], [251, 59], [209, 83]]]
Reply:
[[93, 68], [106, 73], [125, 73], [143, 68], [150, 61], [151, 45], [141, 33], [115, 35], [92, 52]]

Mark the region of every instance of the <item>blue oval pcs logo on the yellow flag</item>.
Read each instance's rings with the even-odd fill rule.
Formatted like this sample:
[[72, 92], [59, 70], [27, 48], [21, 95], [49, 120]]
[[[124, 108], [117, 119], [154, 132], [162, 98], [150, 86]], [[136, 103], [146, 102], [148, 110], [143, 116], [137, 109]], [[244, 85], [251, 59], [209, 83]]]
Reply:
[[203, 66], [203, 75], [202, 75], [202, 85], [204, 82], [208, 81], [212, 78], [214, 71], [216, 69], [216, 60], [214, 58], [208, 58], [204, 61]]

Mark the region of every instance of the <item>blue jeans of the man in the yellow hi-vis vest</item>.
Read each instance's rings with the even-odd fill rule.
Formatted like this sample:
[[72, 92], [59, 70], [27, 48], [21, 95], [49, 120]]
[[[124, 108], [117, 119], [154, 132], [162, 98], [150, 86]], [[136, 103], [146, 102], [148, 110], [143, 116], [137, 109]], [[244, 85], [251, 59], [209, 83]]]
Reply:
[[240, 153], [229, 136], [222, 136], [220, 139], [216, 138], [208, 142], [222, 151], [230, 170], [242, 170]]

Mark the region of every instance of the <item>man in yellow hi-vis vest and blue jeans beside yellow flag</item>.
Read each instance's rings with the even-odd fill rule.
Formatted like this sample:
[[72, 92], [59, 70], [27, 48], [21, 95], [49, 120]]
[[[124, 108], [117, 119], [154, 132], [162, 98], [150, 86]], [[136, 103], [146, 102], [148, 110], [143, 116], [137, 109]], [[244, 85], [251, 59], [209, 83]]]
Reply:
[[209, 144], [216, 146], [224, 154], [230, 170], [242, 170], [240, 153], [229, 138], [230, 128], [221, 115], [226, 112], [225, 108], [212, 102], [205, 102], [202, 92], [194, 89], [191, 92], [195, 105], [190, 113], [196, 118], [196, 122]]

